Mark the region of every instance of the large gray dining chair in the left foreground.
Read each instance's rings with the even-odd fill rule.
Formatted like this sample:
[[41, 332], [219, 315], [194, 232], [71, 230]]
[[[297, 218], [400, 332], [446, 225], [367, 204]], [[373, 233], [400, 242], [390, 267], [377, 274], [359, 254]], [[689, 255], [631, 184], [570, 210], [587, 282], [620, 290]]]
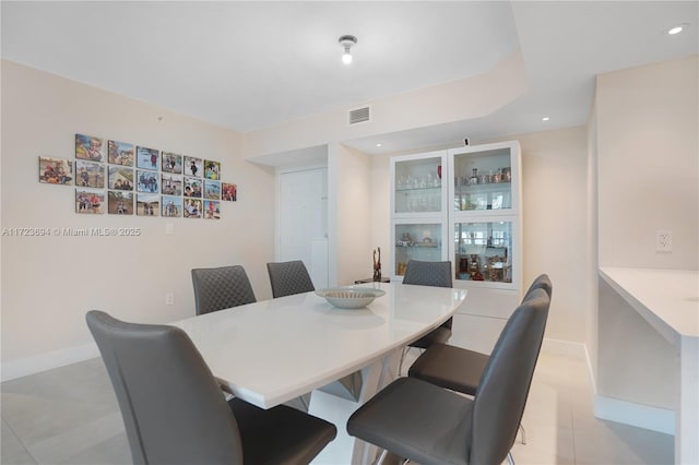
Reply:
[[308, 464], [334, 425], [223, 393], [179, 327], [90, 311], [87, 326], [117, 394], [134, 464]]

